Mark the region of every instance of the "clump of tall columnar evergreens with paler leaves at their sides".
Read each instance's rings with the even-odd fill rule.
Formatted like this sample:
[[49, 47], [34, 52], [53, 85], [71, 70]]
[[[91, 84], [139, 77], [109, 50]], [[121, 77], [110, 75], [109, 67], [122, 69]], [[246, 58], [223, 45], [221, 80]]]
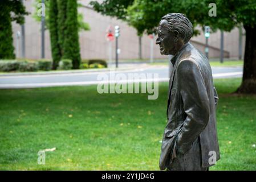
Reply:
[[[36, 11], [34, 18], [40, 21]], [[80, 65], [79, 30], [90, 30], [88, 23], [83, 22], [83, 14], [78, 13], [78, 7], [82, 5], [76, 1], [68, 0], [46, 0], [46, 28], [50, 29], [51, 52], [54, 61], [53, 69], [58, 67], [60, 59], [72, 59], [73, 68], [78, 69]]]

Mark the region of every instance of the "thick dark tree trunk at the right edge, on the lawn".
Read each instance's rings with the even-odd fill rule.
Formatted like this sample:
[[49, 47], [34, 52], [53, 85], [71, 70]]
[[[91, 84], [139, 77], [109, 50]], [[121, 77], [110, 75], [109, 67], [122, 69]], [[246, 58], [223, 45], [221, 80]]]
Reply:
[[256, 27], [243, 26], [246, 31], [243, 79], [237, 93], [256, 93]]

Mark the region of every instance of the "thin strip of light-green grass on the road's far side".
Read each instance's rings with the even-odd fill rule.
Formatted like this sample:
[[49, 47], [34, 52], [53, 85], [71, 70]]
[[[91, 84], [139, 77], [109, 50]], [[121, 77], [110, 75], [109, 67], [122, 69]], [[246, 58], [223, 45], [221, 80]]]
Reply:
[[[168, 61], [165, 62], [156, 62], [150, 63], [151, 65], [168, 65]], [[224, 63], [220, 63], [220, 61], [210, 61], [210, 65], [212, 67], [242, 67], [243, 61], [242, 60], [224, 60]]]

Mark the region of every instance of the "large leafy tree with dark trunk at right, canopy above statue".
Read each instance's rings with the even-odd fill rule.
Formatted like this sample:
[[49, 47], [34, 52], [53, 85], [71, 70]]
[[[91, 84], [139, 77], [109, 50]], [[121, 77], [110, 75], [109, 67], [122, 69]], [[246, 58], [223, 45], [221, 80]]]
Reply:
[[[209, 16], [209, 11], [213, 8], [211, 3], [215, 3], [217, 7], [217, 16]], [[101, 10], [104, 10], [103, 3], [101, 6]], [[256, 93], [256, 36], [253, 34], [256, 32], [255, 0], [134, 0], [123, 11], [127, 22], [139, 33], [156, 32], [161, 17], [168, 13], [184, 13], [194, 27], [208, 25], [213, 31], [231, 31], [242, 24], [246, 31], [246, 46], [242, 84], [237, 92]], [[198, 30], [194, 32], [197, 34]]]

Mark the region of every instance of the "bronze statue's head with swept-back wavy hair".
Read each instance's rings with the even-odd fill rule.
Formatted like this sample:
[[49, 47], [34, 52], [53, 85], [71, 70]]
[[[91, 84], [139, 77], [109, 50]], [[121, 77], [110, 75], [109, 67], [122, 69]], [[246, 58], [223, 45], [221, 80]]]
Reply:
[[156, 44], [159, 44], [162, 55], [175, 55], [189, 42], [192, 34], [192, 23], [184, 14], [169, 13], [160, 20]]

